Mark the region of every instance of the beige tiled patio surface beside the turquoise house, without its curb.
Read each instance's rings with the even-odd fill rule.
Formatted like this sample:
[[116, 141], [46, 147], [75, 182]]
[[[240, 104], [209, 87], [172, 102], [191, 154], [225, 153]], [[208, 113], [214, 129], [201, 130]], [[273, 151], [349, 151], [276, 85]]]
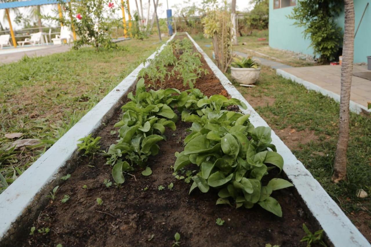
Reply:
[[[290, 67], [282, 70], [340, 95], [340, 65]], [[354, 72], [370, 71], [367, 70], [367, 65], [354, 65], [353, 70]], [[350, 99], [367, 107], [367, 102], [371, 101], [371, 80], [353, 76]]]

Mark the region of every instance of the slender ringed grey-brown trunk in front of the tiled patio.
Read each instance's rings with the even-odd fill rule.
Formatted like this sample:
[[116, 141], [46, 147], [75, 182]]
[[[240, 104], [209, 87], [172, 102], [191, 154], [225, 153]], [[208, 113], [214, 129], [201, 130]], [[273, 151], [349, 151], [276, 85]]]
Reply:
[[339, 139], [336, 146], [334, 175], [335, 183], [347, 176], [347, 150], [349, 139], [349, 100], [353, 74], [354, 56], [354, 2], [344, 0], [344, 41], [341, 64]]

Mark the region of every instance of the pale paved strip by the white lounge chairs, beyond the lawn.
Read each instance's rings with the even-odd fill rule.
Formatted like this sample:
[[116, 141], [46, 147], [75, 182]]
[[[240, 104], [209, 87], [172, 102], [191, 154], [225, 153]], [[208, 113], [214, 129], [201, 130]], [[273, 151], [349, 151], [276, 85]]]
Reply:
[[[36, 46], [37, 47], [37, 46]], [[0, 53], [0, 65], [3, 63], [12, 63], [17, 62], [18, 60], [22, 59], [25, 55], [32, 57], [32, 56], [46, 56], [53, 53], [59, 52], [67, 52], [72, 48], [72, 44], [70, 45], [50, 45], [44, 47], [40, 47], [41, 49], [38, 50], [25, 50], [22, 52], [14, 52], [14, 53]], [[22, 48], [21, 48], [22, 49]]]

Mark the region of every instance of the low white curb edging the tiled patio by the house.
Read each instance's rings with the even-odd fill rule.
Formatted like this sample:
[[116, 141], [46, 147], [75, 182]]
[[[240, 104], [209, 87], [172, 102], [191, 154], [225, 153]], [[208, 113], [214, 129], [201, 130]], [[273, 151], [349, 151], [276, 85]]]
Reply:
[[[330, 98], [334, 99], [337, 102], [340, 102], [340, 95], [337, 93], [331, 92], [329, 90], [326, 90], [324, 88], [321, 88], [318, 85], [315, 85], [314, 83], [308, 82], [306, 80], [303, 80], [299, 78], [298, 76], [292, 75], [289, 72], [286, 72], [283, 69], [277, 69], [276, 70], [277, 75], [282, 76], [283, 78], [290, 79], [293, 82], [299, 83], [303, 86], [305, 86], [306, 89], [309, 90], [315, 90], [316, 92], [321, 93], [322, 95], [329, 96]], [[361, 105], [359, 103], [356, 103], [354, 101], [349, 101], [349, 110], [352, 112], [355, 112], [357, 114], [361, 113], [362, 110], [365, 112], [371, 112], [371, 110], [368, 110], [366, 106]]]

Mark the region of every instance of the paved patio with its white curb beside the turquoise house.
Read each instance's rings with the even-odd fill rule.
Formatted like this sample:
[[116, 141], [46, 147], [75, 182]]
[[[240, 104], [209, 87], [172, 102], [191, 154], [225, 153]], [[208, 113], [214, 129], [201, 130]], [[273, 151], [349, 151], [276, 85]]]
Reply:
[[[247, 57], [248, 55], [242, 52], [235, 52], [239, 56]], [[260, 63], [265, 66], [270, 66], [277, 70], [277, 74], [286, 79], [293, 80], [296, 83], [302, 84], [307, 89], [315, 90], [323, 95], [333, 98], [335, 101], [340, 101], [340, 65], [322, 65], [309, 67], [292, 67], [283, 63], [274, 62], [261, 57], [253, 57], [259, 59]], [[367, 72], [367, 66], [354, 66], [354, 72]], [[353, 112], [370, 112], [367, 109], [367, 102], [371, 101], [371, 81], [352, 77], [351, 100], [349, 109]]]

